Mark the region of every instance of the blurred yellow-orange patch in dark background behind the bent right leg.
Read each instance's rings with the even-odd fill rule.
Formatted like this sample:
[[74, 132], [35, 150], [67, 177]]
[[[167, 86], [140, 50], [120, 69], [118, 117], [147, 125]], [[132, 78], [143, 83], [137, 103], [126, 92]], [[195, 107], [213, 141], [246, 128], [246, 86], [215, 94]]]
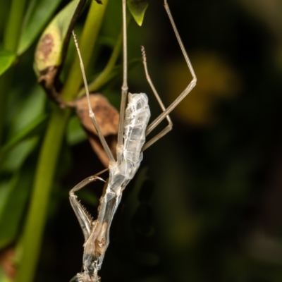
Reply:
[[[197, 75], [197, 85], [181, 102], [174, 114], [183, 122], [205, 126], [216, 120], [215, 107], [220, 99], [230, 99], [238, 93], [240, 79], [219, 55], [200, 53], [190, 57]], [[173, 101], [192, 80], [183, 59], [168, 63], [166, 90]]]

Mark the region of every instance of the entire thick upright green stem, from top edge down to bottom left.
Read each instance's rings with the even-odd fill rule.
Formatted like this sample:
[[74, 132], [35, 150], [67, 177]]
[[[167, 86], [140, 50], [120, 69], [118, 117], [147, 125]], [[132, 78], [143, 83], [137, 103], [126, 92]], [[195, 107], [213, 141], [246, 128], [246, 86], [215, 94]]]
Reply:
[[[87, 16], [87, 21], [80, 39], [81, 51], [83, 51], [83, 54], [87, 54], [87, 56], [84, 56], [86, 66], [102, 25], [107, 2], [108, 0], [104, 0], [103, 5], [98, 5], [95, 1], [92, 1], [92, 6]], [[77, 56], [75, 58], [77, 59]], [[75, 60], [66, 84], [63, 87], [63, 99], [73, 99], [78, 94], [81, 82], [80, 65], [78, 60]], [[70, 116], [71, 109], [62, 110], [55, 108], [51, 114], [47, 133], [44, 137], [39, 155], [30, 208], [25, 223], [23, 242], [20, 245], [23, 252], [20, 257], [16, 282], [32, 282], [35, 277], [42, 235], [47, 219], [49, 197], [53, 186], [54, 174], [56, 173], [56, 164]]]

